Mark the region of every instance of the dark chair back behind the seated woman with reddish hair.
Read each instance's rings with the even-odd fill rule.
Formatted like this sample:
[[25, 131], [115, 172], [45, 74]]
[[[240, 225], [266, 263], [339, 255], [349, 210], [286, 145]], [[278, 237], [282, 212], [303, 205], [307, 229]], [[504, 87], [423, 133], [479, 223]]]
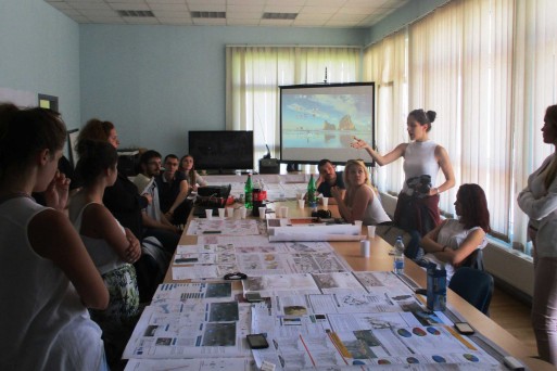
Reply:
[[488, 272], [470, 267], [458, 268], [453, 274], [451, 283], [448, 283], [448, 289], [453, 290], [485, 316], [490, 316], [493, 277]]

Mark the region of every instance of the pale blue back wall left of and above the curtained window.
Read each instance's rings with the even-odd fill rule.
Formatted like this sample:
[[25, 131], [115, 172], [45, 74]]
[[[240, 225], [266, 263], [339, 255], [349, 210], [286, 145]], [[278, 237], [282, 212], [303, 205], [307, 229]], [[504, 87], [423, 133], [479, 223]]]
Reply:
[[81, 121], [113, 120], [122, 146], [187, 151], [225, 129], [226, 44], [362, 46], [364, 29], [80, 25]]

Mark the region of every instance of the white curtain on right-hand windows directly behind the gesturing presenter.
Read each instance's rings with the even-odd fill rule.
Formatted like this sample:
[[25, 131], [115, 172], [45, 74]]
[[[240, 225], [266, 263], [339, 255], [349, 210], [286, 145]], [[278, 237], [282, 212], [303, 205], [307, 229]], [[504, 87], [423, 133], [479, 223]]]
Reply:
[[[409, 26], [409, 105], [438, 113], [430, 137], [451, 157], [458, 186], [486, 193], [494, 231], [509, 235], [512, 91], [511, 0], [459, 0]], [[442, 175], [440, 175], [442, 177]], [[440, 179], [439, 182], [442, 180]]]

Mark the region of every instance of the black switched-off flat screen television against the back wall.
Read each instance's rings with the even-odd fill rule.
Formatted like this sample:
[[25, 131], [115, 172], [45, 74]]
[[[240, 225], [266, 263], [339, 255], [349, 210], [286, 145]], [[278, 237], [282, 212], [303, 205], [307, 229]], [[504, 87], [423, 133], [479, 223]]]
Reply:
[[230, 174], [253, 169], [252, 130], [190, 130], [188, 143], [198, 170]]

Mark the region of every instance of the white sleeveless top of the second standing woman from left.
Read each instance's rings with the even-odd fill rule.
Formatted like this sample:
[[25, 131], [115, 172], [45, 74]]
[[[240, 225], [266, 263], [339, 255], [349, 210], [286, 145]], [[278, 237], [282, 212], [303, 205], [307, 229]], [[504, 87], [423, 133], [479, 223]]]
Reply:
[[[80, 233], [81, 231], [81, 221], [84, 217], [84, 210], [87, 208], [87, 206], [94, 204], [93, 202], [85, 205], [79, 214], [77, 215], [77, 218], [73, 221], [75, 229], [81, 236], [81, 241], [84, 241], [85, 247], [87, 247], [87, 252], [91, 256], [91, 259], [94, 263], [94, 266], [99, 270], [101, 274], [104, 274], [106, 272], [110, 272], [111, 270], [114, 270], [116, 268], [119, 268], [121, 266], [125, 265], [126, 261], [124, 261], [119, 255], [116, 253], [116, 251], [109, 245], [109, 243], [103, 239], [93, 239], [87, 235], [83, 235]], [[119, 223], [118, 220], [114, 219], [119, 228], [122, 229], [122, 233], [126, 233], [124, 230], [124, 227]]]

